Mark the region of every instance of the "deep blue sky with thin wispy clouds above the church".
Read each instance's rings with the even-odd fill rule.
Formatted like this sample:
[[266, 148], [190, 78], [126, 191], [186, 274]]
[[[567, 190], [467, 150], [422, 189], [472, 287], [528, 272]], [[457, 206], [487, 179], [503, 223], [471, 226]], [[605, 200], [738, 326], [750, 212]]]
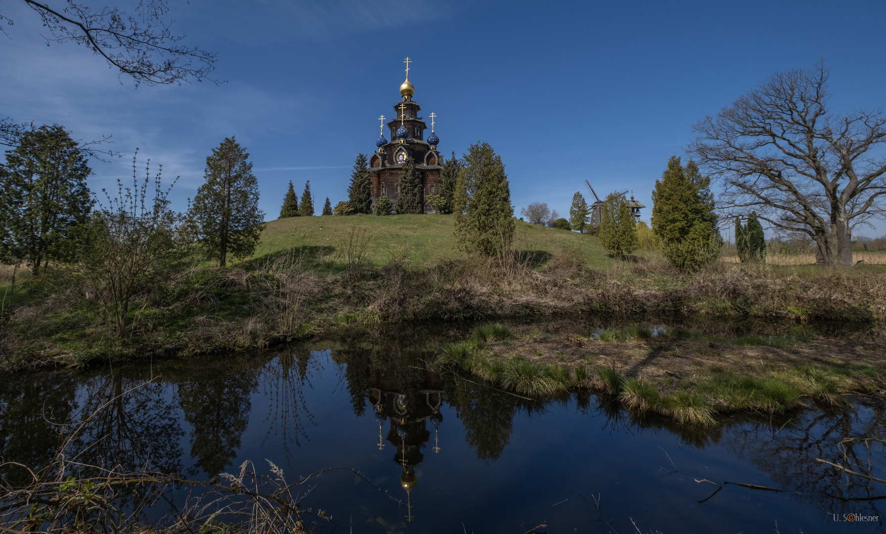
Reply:
[[[174, 30], [217, 51], [214, 75], [227, 83], [136, 89], [82, 47], [47, 47], [35, 13], [2, 0], [15, 25], [0, 35], [0, 115], [113, 135], [130, 156], [139, 147], [140, 167], [150, 158], [181, 176], [181, 208], [211, 149], [237, 135], [271, 220], [290, 180], [299, 195], [310, 180], [318, 203], [346, 199], [408, 56], [416, 102], [438, 115], [439, 150], [491, 143], [517, 213], [541, 201], [566, 214], [575, 191], [590, 196], [587, 178], [598, 194], [633, 190], [648, 219], [655, 180], [692, 124], [775, 71], [824, 58], [835, 112], [886, 104], [882, 1], [172, 4]], [[131, 175], [131, 159], [94, 169], [100, 189]]]

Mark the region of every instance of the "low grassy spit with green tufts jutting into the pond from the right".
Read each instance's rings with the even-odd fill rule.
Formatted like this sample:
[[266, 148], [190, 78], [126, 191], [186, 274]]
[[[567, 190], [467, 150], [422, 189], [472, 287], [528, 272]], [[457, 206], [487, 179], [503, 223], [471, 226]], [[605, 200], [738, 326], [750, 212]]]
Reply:
[[814, 337], [725, 337], [694, 329], [629, 326], [591, 335], [538, 326], [478, 326], [435, 365], [532, 398], [590, 390], [639, 413], [709, 426], [718, 416], [783, 414], [852, 394], [886, 397], [886, 344]]

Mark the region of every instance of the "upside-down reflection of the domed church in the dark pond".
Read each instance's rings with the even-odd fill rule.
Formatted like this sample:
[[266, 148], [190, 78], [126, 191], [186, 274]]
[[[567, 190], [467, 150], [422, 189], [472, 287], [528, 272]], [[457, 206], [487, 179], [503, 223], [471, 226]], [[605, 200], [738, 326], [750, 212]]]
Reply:
[[[424, 460], [422, 448], [431, 439], [427, 422], [431, 422], [434, 430], [434, 446], [431, 447], [434, 453], [440, 452], [439, 427], [443, 422], [443, 414], [440, 414], [444, 398], [442, 378], [436, 373], [422, 375], [418, 381], [414, 375], [401, 381], [396, 368], [373, 368], [367, 390], [378, 423], [378, 449], [385, 449], [386, 438], [395, 448], [393, 460], [403, 468], [400, 485], [406, 491], [406, 519], [410, 522], [414, 518], [411, 496], [418, 482], [415, 468]], [[387, 436], [385, 422], [389, 423]]]

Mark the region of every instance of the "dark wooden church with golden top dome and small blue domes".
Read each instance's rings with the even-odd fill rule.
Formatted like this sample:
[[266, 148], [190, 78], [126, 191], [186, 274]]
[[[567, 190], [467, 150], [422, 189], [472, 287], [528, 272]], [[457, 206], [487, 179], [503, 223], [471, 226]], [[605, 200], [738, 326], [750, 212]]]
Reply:
[[[439, 193], [440, 171], [443, 163], [437, 151], [439, 138], [433, 132], [431, 121], [431, 135], [425, 140], [424, 134], [428, 125], [423, 117], [419, 117], [422, 106], [418, 105], [412, 96], [416, 88], [409, 81], [409, 58], [406, 59], [406, 81], [400, 85], [401, 100], [394, 104], [394, 119], [387, 123], [391, 141], [385, 138], [384, 123], [376, 141], [377, 151], [369, 157], [369, 181], [372, 183], [372, 204], [375, 205], [377, 198], [386, 196], [396, 205], [397, 195], [400, 192], [400, 174], [402, 164], [407, 158], [412, 158], [416, 163], [419, 181], [422, 191], [422, 204], [424, 213], [432, 213], [430, 205], [425, 204], [425, 197]], [[431, 119], [435, 115], [431, 113]], [[382, 116], [380, 120], [384, 120]]]

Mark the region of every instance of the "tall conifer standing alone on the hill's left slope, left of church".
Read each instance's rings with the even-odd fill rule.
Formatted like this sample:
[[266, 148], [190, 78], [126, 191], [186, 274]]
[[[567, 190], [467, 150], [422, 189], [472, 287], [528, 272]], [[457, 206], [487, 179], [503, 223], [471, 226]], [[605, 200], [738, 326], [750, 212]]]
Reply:
[[249, 154], [228, 137], [206, 158], [206, 182], [197, 190], [190, 219], [206, 251], [225, 267], [228, 255], [244, 258], [259, 243], [265, 213]]

